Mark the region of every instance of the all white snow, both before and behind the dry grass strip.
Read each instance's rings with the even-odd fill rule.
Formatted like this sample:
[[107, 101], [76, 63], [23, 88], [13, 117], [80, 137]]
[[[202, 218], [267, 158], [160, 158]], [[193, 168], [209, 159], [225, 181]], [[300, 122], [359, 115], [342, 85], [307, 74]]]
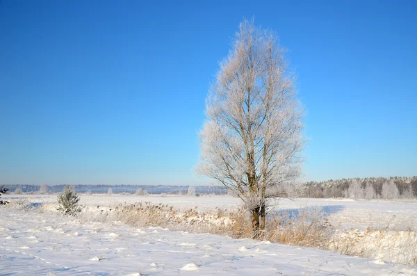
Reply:
[[[17, 195], [6, 195], [13, 199]], [[21, 196], [19, 196], [21, 197]], [[211, 234], [138, 229], [122, 222], [60, 216], [56, 195], [24, 195], [33, 205], [0, 207], [0, 275], [417, 275], [417, 268], [380, 259], [347, 257], [315, 248], [279, 245]], [[150, 201], [178, 209], [210, 211], [238, 206], [233, 197], [81, 195], [81, 204], [117, 206]], [[342, 227], [416, 231], [417, 202], [353, 202], [300, 199], [275, 210], [322, 206]], [[99, 210], [100, 208], [97, 208]], [[395, 216], [394, 216], [395, 215]]]

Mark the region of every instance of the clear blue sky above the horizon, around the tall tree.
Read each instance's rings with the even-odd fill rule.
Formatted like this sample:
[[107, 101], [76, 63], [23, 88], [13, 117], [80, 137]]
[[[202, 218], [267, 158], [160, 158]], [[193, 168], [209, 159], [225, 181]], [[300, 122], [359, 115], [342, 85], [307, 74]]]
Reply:
[[224, 2], [0, 1], [0, 183], [206, 183], [204, 99], [244, 17], [290, 50], [306, 180], [417, 174], [417, 1]]

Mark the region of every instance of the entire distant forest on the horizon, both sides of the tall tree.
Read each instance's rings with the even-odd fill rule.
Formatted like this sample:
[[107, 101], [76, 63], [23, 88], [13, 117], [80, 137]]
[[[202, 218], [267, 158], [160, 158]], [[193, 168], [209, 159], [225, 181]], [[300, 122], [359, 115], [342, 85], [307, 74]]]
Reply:
[[[5, 185], [9, 193], [60, 193], [65, 185]], [[146, 190], [149, 195], [187, 195], [190, 186], [170, 185], [72, 185], [77, 193], [138, 194]], [[222, 186], [195, 186], [195, 195], [227, 195]], [[399, 199], [417, 197], [417, 177], [369, 177], [306, 182], [304, 197], [331, 198], [345, 197], [358, 199]]]

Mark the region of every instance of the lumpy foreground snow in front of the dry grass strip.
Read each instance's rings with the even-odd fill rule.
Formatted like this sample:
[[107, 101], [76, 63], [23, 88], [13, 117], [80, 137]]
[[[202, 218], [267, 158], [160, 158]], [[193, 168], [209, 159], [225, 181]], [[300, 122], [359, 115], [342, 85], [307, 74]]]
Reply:
[[411, 266], [7, 208], [0, 275], [417, 275]]

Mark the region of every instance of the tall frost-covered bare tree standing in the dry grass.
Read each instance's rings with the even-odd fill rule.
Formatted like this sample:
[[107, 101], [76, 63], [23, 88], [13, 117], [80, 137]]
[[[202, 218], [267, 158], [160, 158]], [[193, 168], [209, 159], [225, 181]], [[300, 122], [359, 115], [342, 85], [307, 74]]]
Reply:
[[286, 51], [244, 20], [206, 99], [200, 174], [234, 191], [265, 228], [268, 199], [299, 195], [303, 111]]

